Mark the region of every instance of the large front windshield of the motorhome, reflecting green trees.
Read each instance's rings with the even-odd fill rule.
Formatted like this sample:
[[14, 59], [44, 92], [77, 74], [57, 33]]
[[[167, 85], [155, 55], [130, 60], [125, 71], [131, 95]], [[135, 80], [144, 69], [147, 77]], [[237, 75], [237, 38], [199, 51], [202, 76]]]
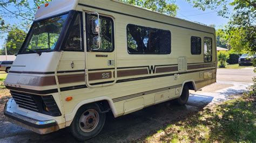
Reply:
[[68, 14], [35, 22], [22, 51], [52, 51], [67, 17]]

